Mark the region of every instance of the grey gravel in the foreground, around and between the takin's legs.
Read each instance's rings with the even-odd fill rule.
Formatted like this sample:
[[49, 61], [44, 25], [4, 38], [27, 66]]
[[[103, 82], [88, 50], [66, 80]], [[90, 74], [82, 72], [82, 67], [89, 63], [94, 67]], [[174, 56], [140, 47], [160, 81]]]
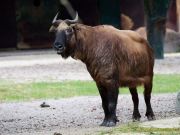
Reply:
[[[175, 113], [176, 94], [152, 96], [152, 107], [157, 119], [178, 116]], [[91, 134], [104, 128], [100, 97], [75, 97], [47, 100], [51, 107], [41, 108], [42, 101], [0, 104], [0, 131], [2, 135], [64, 135]], [[131, 121], [133, 105], [130, 95], [120, 95], [117, 105], [118, 125]], [[145, 103], [140, 95], [141, 121], [145, 118]], [[97, 128], [98, 127], [98, 128]], [[82, 132], [83, 131], [83, 132]]]

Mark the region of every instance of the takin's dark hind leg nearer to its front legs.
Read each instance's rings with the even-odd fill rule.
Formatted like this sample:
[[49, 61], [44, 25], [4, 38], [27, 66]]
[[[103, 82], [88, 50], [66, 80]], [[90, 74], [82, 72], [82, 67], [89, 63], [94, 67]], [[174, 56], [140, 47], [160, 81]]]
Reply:
[[132, 119], [133, 119], [133, 121], [139, 121], [141, 118], [141, 115], [140, 115], [139, 109], [138, 109], [139, 98], [138, 98], [137, 89], [136, 88], [129, 88], [129, 91], [131, 93], [133, 104], [134, 104]]

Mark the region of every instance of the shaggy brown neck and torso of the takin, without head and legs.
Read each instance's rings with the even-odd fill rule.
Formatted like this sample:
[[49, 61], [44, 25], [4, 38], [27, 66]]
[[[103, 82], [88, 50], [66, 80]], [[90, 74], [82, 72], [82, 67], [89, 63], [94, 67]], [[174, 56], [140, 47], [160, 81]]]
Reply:
[[[112, 26], [74, 26], [72, 57], [80, 59], [97, 83], [135, 87], [152, 81], [154, 57], [147, 41]], [[72, 48], [71, 48], [72, 49]]]

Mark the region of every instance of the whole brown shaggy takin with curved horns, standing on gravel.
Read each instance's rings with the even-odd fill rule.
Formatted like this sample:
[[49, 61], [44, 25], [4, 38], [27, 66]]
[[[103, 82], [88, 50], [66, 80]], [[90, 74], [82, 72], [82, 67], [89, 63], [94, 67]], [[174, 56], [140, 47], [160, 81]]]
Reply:
[[144, 86], [146, 116], [154, 120], [151, 107], [154, 56], [148, 42], [138, 33], [118, 30], [110, 25], [87, 26], [74, 20], [57, 20], [50, 32], [56, 34], [53, 44], [57, 54], [85, 63], [99, 90], [104, 120], [101, 126], [115, 126], [118, 122], [116, 106], [119, 87], [128, 87], [132, 95], [133, 121], [140, 120], [139, 98], [136, 87]]

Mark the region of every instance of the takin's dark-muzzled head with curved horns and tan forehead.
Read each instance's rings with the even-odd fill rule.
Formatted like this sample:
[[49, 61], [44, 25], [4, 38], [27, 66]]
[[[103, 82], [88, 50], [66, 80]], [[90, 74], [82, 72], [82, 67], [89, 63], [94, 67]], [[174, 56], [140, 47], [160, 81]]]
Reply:
[[57, 20], [57, 16], [58, 14], [54, 17], [49, 29], [49, 32], [55, 33], [53, 48], [63, 57], [68, 57], [71, 51], [69, 42], [74, 35], [73, 25], [78, 22], [78, 14], [76, 13], [74, 20]]

